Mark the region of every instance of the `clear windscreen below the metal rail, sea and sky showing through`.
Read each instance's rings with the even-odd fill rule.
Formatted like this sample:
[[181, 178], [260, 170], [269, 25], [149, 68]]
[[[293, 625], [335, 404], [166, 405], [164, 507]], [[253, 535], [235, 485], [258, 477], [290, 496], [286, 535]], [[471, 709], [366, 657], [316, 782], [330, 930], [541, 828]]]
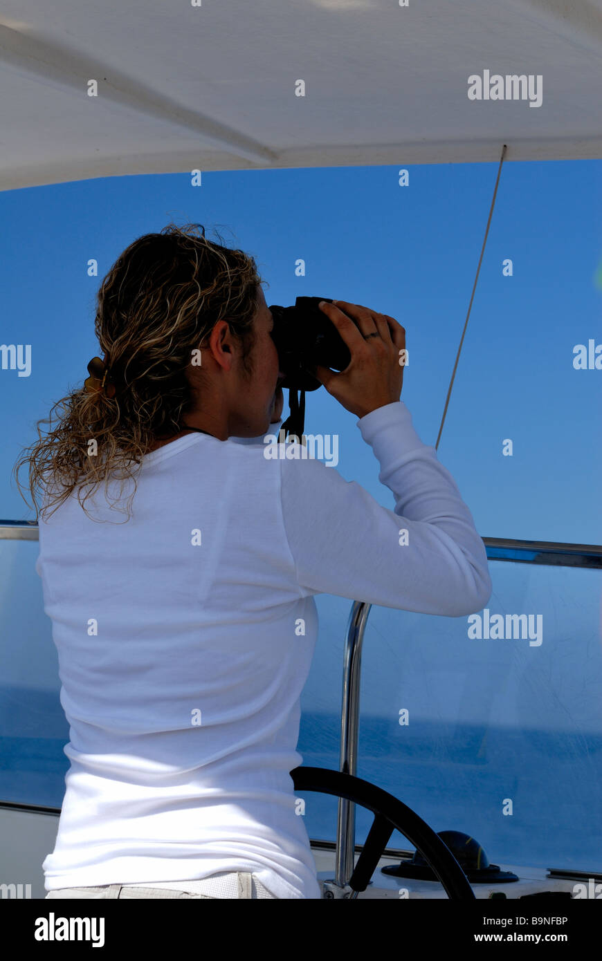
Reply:
[[[60, 807], [68, 726], [38, 544], [0, 551], [0, 800]], [[474, 836], [494, 864], [602, 870], [599, 570], [491, 560], [491, 613], [542, 615], [542, 642], [471, 639], [465, 618], [373, 607], [364, 638], [358, 776], [435, 830]], [[339, 770], [350, 602], [319, 596], [298, 750]], [[409, 716], [400, 725], [400, 711]], [[310, 837], [334, 841], [338, 801], [304, 797]], [[512, 813], [510, 803], [512, 802]], [[372, 821], [357, 808], [357, 840]], [[393, 833], [390, 847], [409, 849]]]

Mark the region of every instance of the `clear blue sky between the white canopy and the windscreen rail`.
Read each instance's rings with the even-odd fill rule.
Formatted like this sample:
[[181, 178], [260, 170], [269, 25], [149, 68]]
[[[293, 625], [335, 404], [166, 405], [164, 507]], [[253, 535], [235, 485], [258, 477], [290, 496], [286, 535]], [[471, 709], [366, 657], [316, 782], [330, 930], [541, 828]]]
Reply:
[[[32, 345], [32, 372], [0, 370], [0, 516], [25, 518], [20, 446], [98, 353], [94, 298], [117, 255], [168, 222], [217, 227], [258, 260], [267, 304], [299, 294], [364, 304], [407, 330], [402, 400], [435, 444], [497, 171], [491, 164], [229, 171], [108, 178], [0, 193], [0, 340]], [[598, 543], [602, 371], [573, 347], [602, 342], [602, 161], [506, 162], [439, 444], [483, 536]], [[98, 277], [88, 277], [88, 259]], [[295, 261], [306, 276], [295, 276]], [[513, 259], [514, 276], [502, 275]], [[288, 407], [285, 408], [286, 410]], [[286, 413], [285, 413], [286, 416]], [[340, 435], [339, 471], [389, 491], [356, 418], [322, 388], [306, 429]], [[514, 456], [502, 455], [511, 438]]]

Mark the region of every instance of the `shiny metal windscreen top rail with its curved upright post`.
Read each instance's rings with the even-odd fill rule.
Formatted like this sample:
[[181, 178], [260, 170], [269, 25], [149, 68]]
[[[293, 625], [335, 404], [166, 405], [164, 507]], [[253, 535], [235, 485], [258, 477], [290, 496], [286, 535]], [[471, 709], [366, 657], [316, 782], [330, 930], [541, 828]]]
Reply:
[[[0, 520], [0, 540], [38, 540], [33, 521]], [[562, 567], [602, 568], [602, 547], [564, 544], [557, 541], [512, 540], [484, 537], [488, 560]], [[343, 655], [340, 712], [339, 770], [357, 775], [360, 733], [360, 681], [365, 626], [371, 604], [354, 601], [349, 615]], [[353, 874], [355, 853], [355, 804], [339, 799], [335, 884], [345, 887]]]

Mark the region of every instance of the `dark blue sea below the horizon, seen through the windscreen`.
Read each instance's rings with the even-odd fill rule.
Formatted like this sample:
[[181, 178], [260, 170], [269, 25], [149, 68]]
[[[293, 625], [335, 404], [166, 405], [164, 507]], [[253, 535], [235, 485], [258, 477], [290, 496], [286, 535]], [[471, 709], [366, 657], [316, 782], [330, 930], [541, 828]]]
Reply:
[[[60, 807], [68, 727], [58, 698], [5, 687], [0, 705], [0, 798]], [[404, 801], [435, 830], [472, 835], [494, 864], [602, 869], [602, 737], [429, 721], [406, 729], [395, 724], [362, 717], [358, 776]], [[304, 713], [298, 747], [304, 765], [339, 770], [339, 715]], [[309, 792], [299, 797], [310, 837], [334, 841], [338, 801]], [[508, 800], [512, 814], [504, 813]], [[372, 815], [361, 807], [356, 811], [360, 843]], [[412, 848], [397, 831], [389, 847]]]

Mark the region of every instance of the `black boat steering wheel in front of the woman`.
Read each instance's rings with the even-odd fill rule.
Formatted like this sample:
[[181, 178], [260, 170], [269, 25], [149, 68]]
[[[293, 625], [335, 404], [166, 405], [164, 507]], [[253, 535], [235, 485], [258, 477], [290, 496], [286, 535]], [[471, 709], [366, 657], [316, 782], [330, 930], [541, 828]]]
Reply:
[[367, 888], [387, 848], [389, 838], [396, 829], [420, 851], [429, 867], [439, 877], [449, 899], [475, 899], [470, 883], [451, 850], [412, 808], [398, 801], [392, 794], [361, 777], [328, 768], [298, 767], [290, 772], [290, 776], [295, 792], [299, 794], [315, 791], [318, 794], [334, 795], [336, 798], [360, 804], [374, 814], [364, 849], [349, 879], [352, 898]]

